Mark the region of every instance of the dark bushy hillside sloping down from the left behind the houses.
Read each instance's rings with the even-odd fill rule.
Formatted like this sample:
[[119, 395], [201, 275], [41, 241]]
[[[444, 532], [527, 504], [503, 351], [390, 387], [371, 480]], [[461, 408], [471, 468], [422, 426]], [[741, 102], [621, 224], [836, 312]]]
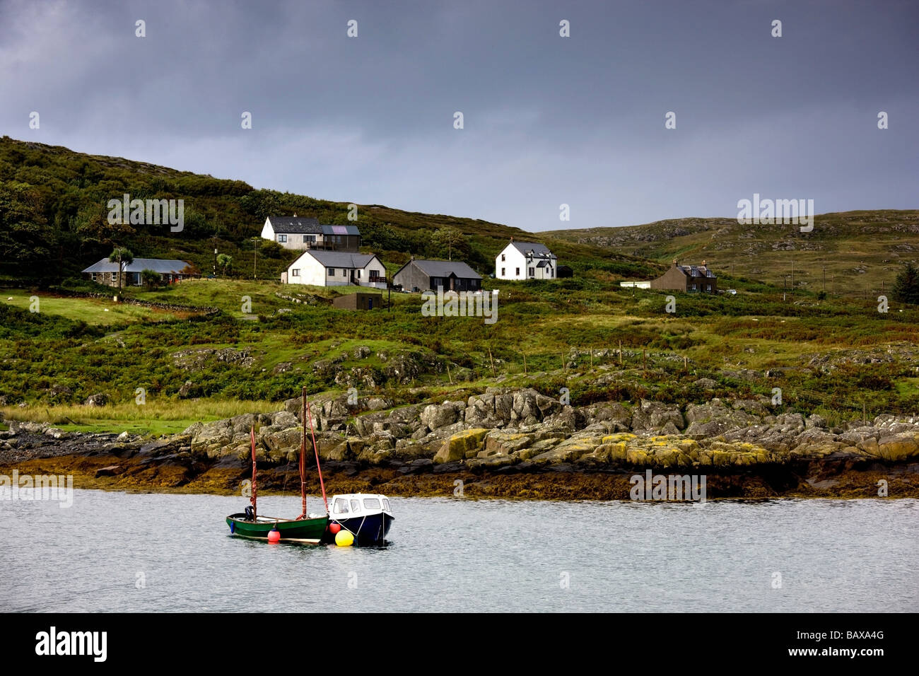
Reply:
[[[108, 200], [185, 201], [185, 226], [170, 233], [164, 225], [108, 223]], [[189, 260], [212, 270], [213, 249], [233, 256], [236, 276], [253, 274], [253, 240], [267, 215], [318, 218], [349, 223], [347, 204], [275, 190], [256, 190], [243, 181], [177, 171], [120, 157], [85, 155], [62, 146], [0, 139], [0, 278], [58, 283], [78, 275], [113, 246], [128, 246], [136, 258]], [[441, 214], [403, 212], [379, 204], [358, 205], [357, 223], [364, 250], [380, 254], [393, 271], [410, 256], [447, 258], [452, 254], [483, 275], [494, 272], [494, 256], [511, 237], [548, 243], [542, 235], [498, 223]], [[438, 231], [440, 231], [438, 235]], [[259, 279], [277, 280], [295, 256], [259, 241]], [[646, 276], [656, 270], [647, 261], [597, 246], [553, 241], [563, 261], [580, 272]], [[51, 265], [49, 264], [51, 263]]]

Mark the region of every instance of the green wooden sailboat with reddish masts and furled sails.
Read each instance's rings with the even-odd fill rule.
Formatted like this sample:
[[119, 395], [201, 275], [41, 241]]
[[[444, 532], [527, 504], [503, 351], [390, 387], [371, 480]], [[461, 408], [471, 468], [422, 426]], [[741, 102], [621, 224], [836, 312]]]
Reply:
[[[295, 519], [280, 519], [278, 517], [262, 516], [258, 513], [257, 491], [255, 485], [255, 427], [250, 430], [250, 439], [252, 441], [252, 495], [249, 502], [250, 507], [245, 511], [231, 514], [227, 517], [227, 525], [230, 526], [230, 534], [234, 537], [245, 537], [254, 540], [265, 540], [270, 543], [297, 543], [297, 544], [320, 544], [329, 523], [329, 504], [325, 498], [325, 483], [323, 482], [323, 470], [319, 464], [319, 450], [316, 447], [316, 434], [312, 430], [312, 416], [310, 415], [310, 405], [306, 400], [306, 388], [302, 389], [303, 395], [303, 434], [300, 444], [300, 495], [302, 501], [301, 515]], [[308, 514], [306, 510], [306, 467], [304, 456], [306, 455], [306, 421], [310, 421], [310, 432], [312, 434], [312, 450], [316, 456], [316, 469], [319, 472], [319, 484], [323, 488], [323, 503], [325, 504], [325, 513]]]

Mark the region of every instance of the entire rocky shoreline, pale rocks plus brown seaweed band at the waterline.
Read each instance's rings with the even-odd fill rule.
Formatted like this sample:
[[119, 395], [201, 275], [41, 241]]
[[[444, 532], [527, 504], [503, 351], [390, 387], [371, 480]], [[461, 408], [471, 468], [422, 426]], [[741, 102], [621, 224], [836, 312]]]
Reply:
[[[353, 398], [352, 398], [353, 401]], [[919, 418], [830, 427], [761, 400], [685, 408], [641, 400], [567, 406], [532, 389], [394, 406], [311, 399], [330, 492], [628, 499], [634, 475], [704, 475], [708, 499], [919, 498]], [[301, 400], [278, 412], [195, 423], [158, 440], [10, 421], [0, 472], [73, 474], [76, 487], [233, 493], [256, 429], [261, 491], [296, 488]], [[319, 491], [314, 470], [308, 480]]]

